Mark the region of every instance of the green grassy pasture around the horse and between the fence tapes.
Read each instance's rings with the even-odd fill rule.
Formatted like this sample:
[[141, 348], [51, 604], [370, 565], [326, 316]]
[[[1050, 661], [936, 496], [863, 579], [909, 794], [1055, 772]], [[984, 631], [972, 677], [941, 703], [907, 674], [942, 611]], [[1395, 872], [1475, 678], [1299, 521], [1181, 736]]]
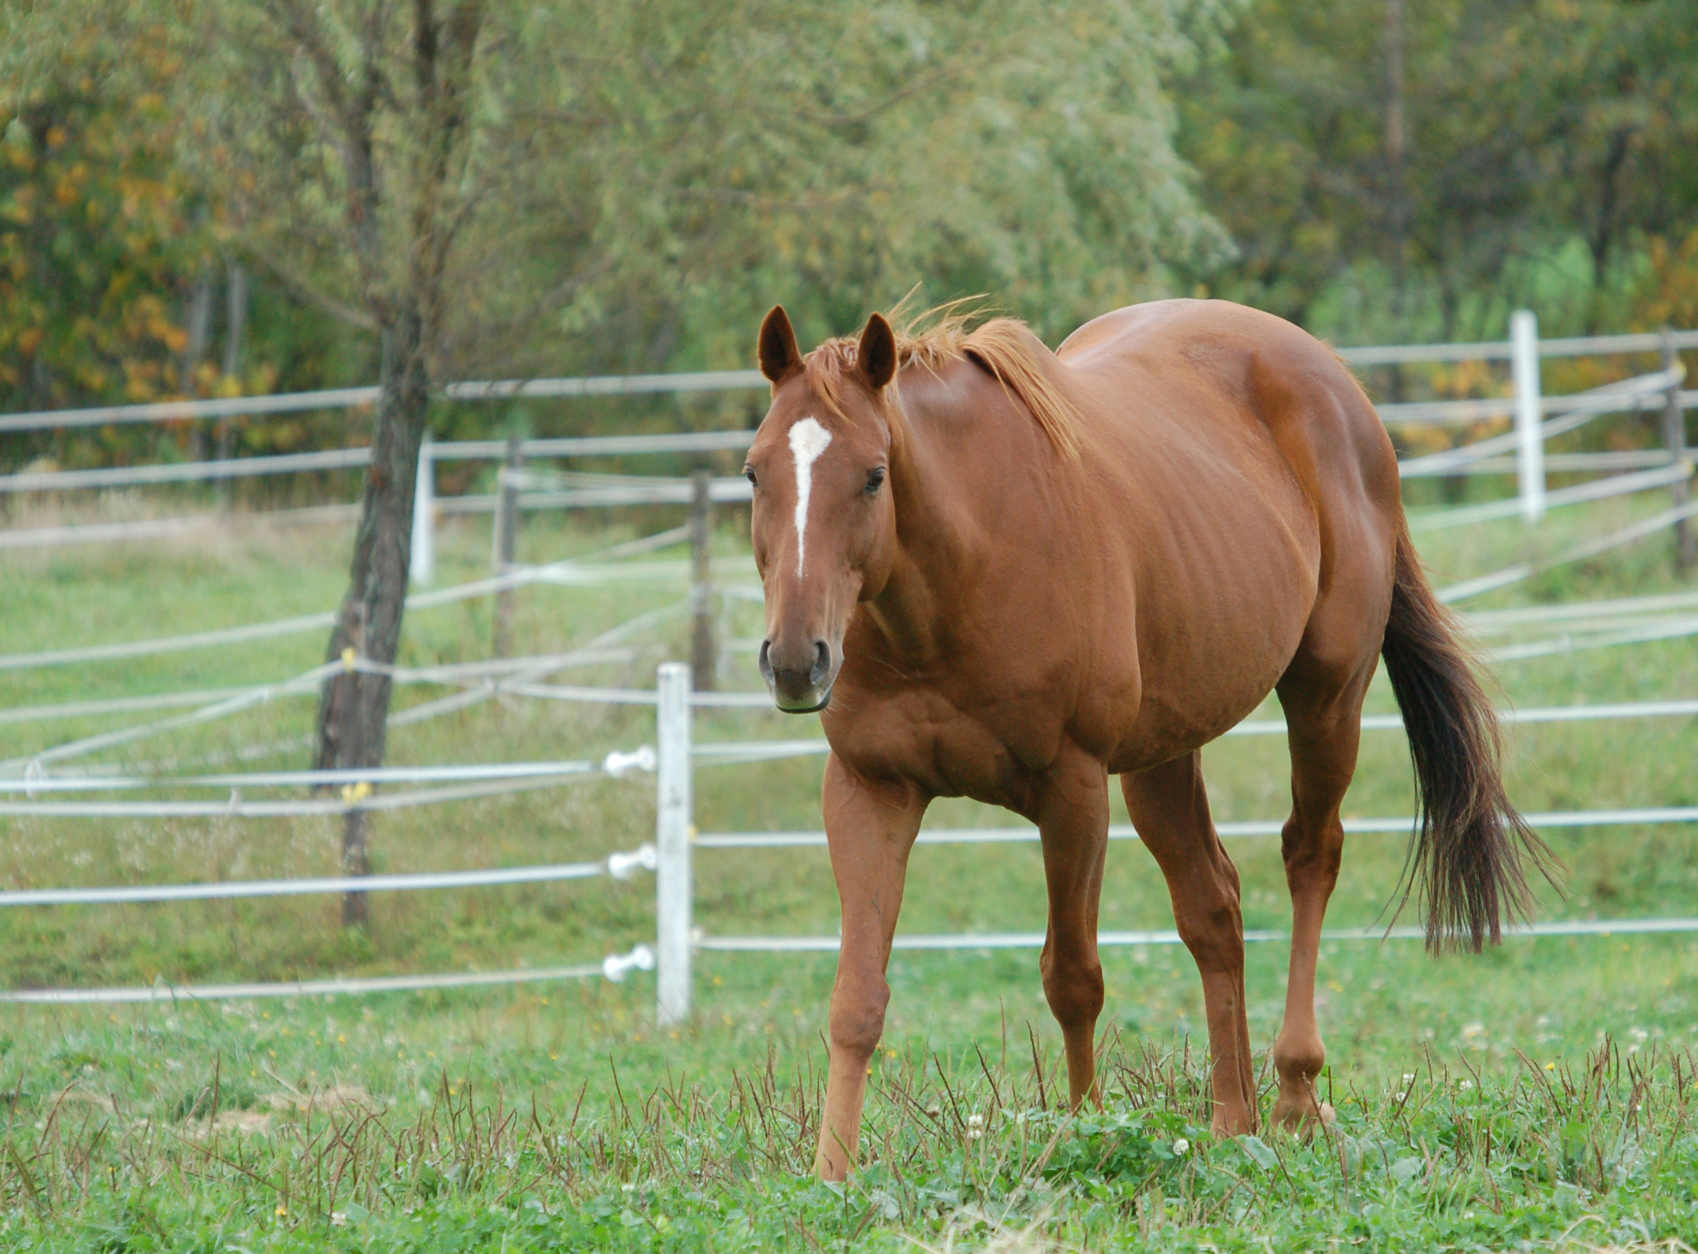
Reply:
[[[1443, 585], [1627, 526], [1661, 501], [1559, 511], [1528, 535], [1494, 523], [1421, 536]], [[671, 519], [606, 531], [528, 521], [521, 558], [586, 553]], [[487, 524], [486, 524], [487, 526]], [[134, 640], [326, 609], [341, 591], [340, 529], [217, 541], [12, 553], [0, 653]], [[722, 579], [751, 584], [740, 535], [718, 540]], [[438, 584], [487, 574], [487, 531], [450, 528]], [[676, 560], [657, 555], [654, 568]], [[638, 565], [647, 558], [633, 562]], [[1691, 589], [1657, 536], [1481, 597], [1540, 606]], [[666, 577], [518, 596], [526, 653], [565, 650], [676, 602]], [[1691, 613], [1691, 611], [1686, 611]], [[732, 636], [759, 631], [732, 601]], [[1576, 630], [1533, 621], [1487, 647]], [[408, 663], [489, 652], [487, 601], [409, 616]], [[273, 682], [321, 658], [321, 631], [110, 663], [0, 672], [5, 708]], [[627, 660], [562, 682], [652, 684], [684, 653], [672, 616]], [[1698, 694], [1698, 647], [1671, 640], [1503, 663], [1516, 706]], [[732, 653], [725, 684], [756, 687]], [[441, 689], [402, 689], [399, 706]], [[109, 750], [134, 767], [304, 764], [311, 697]], [[1391, 711], [1379, 680], [1372, 711]], [[0, 721], [0, 759], [143, 714]], [[1277, 708], [1268, 706], [1272, 716]], [[698, 740], [817, 735], [812, 719], [703, 713]], [[599, 757], [652, 742], [652, 714], [543, 701], [486, 703], [396, 728], [394, 764]], [[1691, 719], [1520, 728], [1513, 794], [1527, 809], [1698, 804]], [[818, 759], [703, 767], [701, 830], [818, 826]], [[1279, 738], [1207, 750], [1219, 820], [1279, 818]], [[1406, 815], [1399, 733], [1363, 738], [1347, 815]], [[1116, 798], [1117, 818], [1124, 820]], [[1010, 821], [939, 803], [929, 823]], [[599, 857], [652, 833], [652, 782], [397, 811], [375, 821], [379, 871]], [[1567, 896], [1543, 918], [1693, 913], [1698, 857], [1684, 828], [1552, 833]], [[333, 874], [338, 823], [301, 820], [0, 820], [0, 882], [175, 882]], [[1231, 842], [1250, 927], [1289, 920], [1277, 842]], [[1357, 837], [1330, 915], [1380, 916], [1403, 842]], [[710, 933], [835, 928], [824, 850], [701, 852], [698, 923]], [[968, 891], [963, 891], [968, 889]], [[514, 886], [374, 898], [368, 933], [333, 901], [187, 903], [0, 913], [0, 982], [22, 986], [292, 979], [554, 966], [652, 937], [652, 881]], [[1134, 842], [1110, 850], [1104, 928], [1170, 927], [1165, 889]], [[1041, 930], [1036, 845], [922, 847], [908, 932]], [[1370, 1249], [1591, 1247], [1698, 1234], [1698, 1139], [1688, 1123], [1698, 1045], [1698, 945], [1688, 937], [1515, 940], [1428, 959], [1408, 942], [1330, 943], [1321, 1022], [1328, 1140], [1216, 1145], [1202, 1098], [1202, 1006], [1173, 947], [1105, 954], [1104, 1113], [1054, 1110], [1058, 1033], [1036, 954], [898, 954], [888, 1049], [869, 1108], [869, 1167], [847, 1190], [808, 1183], [829, 955], [698, 957], [698, 1013], [652, 1027], [652, 977], [508, 991], [166, 1008], [0, 1011], [0, 1239], [20, 1249], [817, 1249], [942, 1247]], [[1255, 945], [1251, 1037], [1267, 1047], [1284, 949]], [[1263, 1108], [1267, 1108], [1267, 1101]], [[976, 1122], [975, 1122], [976, 1120]], [[1180, 1152], [1175, 1144], [1184, 1142]], [[340, 1217], [340, 1222], [335, 1218]], [[1026, 1234], [1017, 1237], [1017, 1234]]]

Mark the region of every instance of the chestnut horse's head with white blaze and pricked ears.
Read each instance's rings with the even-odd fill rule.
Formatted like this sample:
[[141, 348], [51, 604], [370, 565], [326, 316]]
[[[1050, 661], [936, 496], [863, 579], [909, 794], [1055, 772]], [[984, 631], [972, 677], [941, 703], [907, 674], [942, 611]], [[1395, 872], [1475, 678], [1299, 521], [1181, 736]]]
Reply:
[[754, 560], [766, 589], [761, 674], [778, 708], [793, 714], [832, 699], [849, 614], [885, 587], [897, 548], [886, 482], [897, 338], [873, 314], [852, 350], [834, 348], [852, 353], [849, 368], [813, 372], [781, 305], [761, 324], [773, 406], [744, 473], [754, 485]]

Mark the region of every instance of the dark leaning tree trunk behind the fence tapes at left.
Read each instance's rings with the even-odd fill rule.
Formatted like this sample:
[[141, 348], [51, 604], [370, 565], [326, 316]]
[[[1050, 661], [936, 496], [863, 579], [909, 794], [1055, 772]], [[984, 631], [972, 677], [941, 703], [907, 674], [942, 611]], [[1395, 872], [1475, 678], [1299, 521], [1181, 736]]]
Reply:
[[[348, 657], [345, 650], [351, 648], [360, 658], [389, 665], [401, 643], [413, 557], [413, 492], [430, 400], [423, 321], [416, 302], [406, 302], [382, 327], [380, 336], [372, 465], [365, 473], [360, 501], [348, 592], [329, 636], [326, 660]], [[382, 765], [389, 696], [389, 675], [343, 670], [328, 679], [319, 696], [314, 769], [358, 770]], [[350, 809], [343, 828], [343, 874], [370, 872], [365, 833], [365, 813]], [[365, 921], [365, 894], [346, 894], [343, 923]]]

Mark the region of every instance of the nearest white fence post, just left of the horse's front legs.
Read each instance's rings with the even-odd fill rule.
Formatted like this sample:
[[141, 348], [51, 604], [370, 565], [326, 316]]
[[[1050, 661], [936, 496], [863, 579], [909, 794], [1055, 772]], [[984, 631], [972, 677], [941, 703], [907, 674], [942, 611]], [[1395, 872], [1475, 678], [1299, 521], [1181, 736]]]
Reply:
[[655, 984], [661, 1027], [689, 1018], [691, 937], [691, 789], [689, 789], [689, 667], [662, 662], [655, 680], [655, 787], [654, 825]]

